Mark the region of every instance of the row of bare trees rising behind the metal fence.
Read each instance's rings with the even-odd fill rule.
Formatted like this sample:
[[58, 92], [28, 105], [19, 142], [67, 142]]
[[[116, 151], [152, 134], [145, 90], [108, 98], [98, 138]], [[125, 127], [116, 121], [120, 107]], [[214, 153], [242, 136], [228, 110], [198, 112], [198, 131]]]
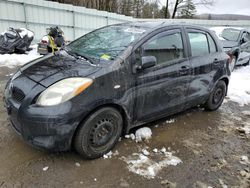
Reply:
[[193, 18], [196, 6], [212, 6], [214, 0], [50, 0], [135, 18]]

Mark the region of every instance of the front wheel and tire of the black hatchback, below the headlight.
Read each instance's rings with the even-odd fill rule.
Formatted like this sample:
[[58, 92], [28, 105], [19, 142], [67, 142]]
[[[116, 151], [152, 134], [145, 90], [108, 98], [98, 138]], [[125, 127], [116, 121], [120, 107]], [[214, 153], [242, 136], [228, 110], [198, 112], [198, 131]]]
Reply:
[[114, 147], [122, 133], [122, 126], [122, 116], [115, 108], [101, 108], [77, 129], [74, 147], [84, 158], [99, 158]]

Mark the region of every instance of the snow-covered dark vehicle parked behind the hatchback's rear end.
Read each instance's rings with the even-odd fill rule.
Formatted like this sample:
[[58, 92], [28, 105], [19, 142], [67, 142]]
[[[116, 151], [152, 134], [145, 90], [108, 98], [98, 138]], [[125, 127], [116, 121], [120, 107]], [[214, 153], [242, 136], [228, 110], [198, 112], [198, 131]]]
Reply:
[[249, 65], [250, 31], [238, 27], [210, 28], [219, 37], [224, 51], [231, 56], [230, 70], [236, 65]]

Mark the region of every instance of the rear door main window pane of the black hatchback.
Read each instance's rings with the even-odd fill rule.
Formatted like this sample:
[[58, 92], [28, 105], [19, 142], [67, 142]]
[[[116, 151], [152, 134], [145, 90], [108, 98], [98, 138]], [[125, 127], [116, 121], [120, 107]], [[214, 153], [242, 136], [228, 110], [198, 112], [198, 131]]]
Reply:
[[209, 54], [209, 45], [206, 34], [189, 32], [188, 37], [190, 40], [192, 56], [203, 56]]

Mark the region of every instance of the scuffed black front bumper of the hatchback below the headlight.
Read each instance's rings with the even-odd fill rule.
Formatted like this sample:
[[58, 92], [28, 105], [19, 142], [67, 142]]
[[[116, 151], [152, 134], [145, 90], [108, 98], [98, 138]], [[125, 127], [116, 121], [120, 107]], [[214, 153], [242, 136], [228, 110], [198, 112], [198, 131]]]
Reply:
[[41, 108], [38, 115], [38, 109], [30, 108], [26, 111], [18, 109], [10, 101], [6, 100], [5, 103], [13, 128], [25, 142], [50, 151], [66, 151], [71, 148], [75, 129], [80, 123], [79, 117], [72, 118], [72, 114], [61, 110], [58, 115], [58, 109]]

